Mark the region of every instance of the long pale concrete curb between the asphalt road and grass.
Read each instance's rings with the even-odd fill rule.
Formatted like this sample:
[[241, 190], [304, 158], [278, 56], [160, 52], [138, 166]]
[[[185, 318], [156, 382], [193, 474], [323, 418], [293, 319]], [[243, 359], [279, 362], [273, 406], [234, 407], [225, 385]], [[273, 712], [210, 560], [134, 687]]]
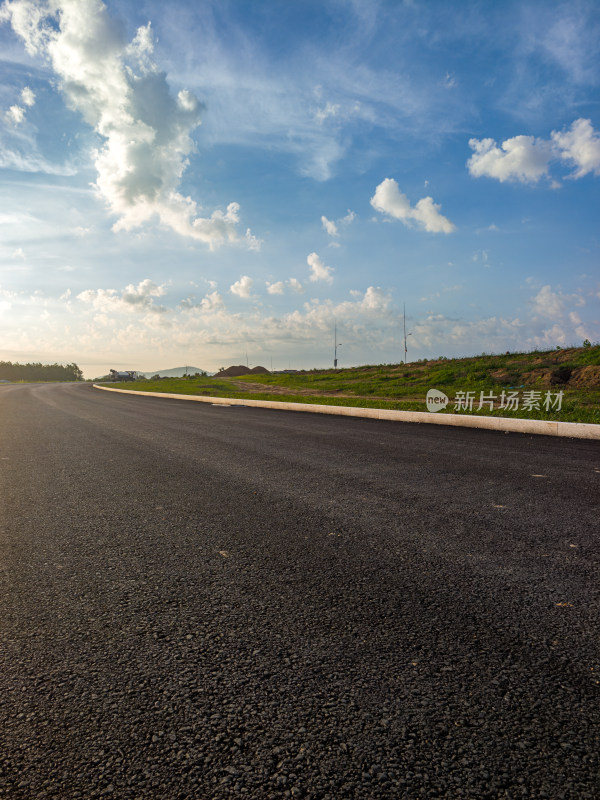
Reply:
[[134, 389], [113, 389], [92, 384], [94, 389], [141, 397], [168, 397], [171, 400], [193, 400], [224, 406], [252, 406], [273, 408], [279, 411], [308, 411], [312, 414], [337, 414], [342, 417], [387, 419], [394, 422], [424, 422], [429, 425], [455, 425], [461, 428], [485, 428], [491, 431], [512, 433], [539, 433], [545, 436], [569, 436], [574, 439], [600, 439], [600, 425], [586, 422], [548, 422], [539, 419], [509, 419], [508, 417], [475, 417], [467, 414], [434, 414], [431, 411], [393, 411], [385, 408], [356, 408], [353, 406], [322, 406], [315, 403], [280, 403], [276, 400], [242, 400], [233, 397], [204, 397], [196, 394], [169, 394], [168, 392], [138, 392]]

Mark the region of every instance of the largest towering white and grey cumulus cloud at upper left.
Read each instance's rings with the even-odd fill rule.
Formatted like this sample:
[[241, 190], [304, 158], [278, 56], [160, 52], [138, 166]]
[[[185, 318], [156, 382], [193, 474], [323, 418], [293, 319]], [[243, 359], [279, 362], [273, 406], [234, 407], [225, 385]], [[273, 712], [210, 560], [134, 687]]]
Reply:
[[2, 14], [30, 54], [47, 58], [68, 105], [101, 137], [96, 186], [118, 217], [116, 230], [158, 218], [211, 248], [239, 238], [237, 203], [200, 216], [177, 191], [203, 106], [187, 90], [171, 94], [152, 58], [150, 23], [128, 43], [101, 0], [12, 0]]

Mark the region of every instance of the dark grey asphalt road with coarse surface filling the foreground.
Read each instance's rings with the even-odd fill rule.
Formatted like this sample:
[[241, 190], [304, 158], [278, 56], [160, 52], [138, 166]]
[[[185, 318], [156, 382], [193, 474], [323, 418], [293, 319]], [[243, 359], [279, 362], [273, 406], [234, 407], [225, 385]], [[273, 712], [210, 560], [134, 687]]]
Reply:
[[0, 797], [600, 797], [600, 444], [0, 387]]

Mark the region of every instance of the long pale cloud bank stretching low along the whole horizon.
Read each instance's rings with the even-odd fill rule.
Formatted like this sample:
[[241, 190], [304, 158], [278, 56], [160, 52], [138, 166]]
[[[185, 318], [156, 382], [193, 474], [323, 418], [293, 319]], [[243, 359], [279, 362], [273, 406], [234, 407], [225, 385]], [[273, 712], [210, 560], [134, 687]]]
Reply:
[[[580, 308], [580, 294], [566, 294], [552, 286], [542, 289], [533, 290], [529, 313], [522, 318], [450, 318], [433, 312], [418, 316], [410, 321], [409, 355], [413, 359], [460, 356], [600, 339], [593, 303], [589, 309]], [[0, 288], [0, 336], [6, 357], [75, 360], [88, 377], [94, 377], [116, 366], [109, 363], [115, 357], [131, 369], [155, 369], [159, 357], [165, 364], [188, 362], [216, 369], [235, 363], [228, 360], [237, 358], [240, 345], [248, 343], [258, 351], [253, 356], [257, 363], [268, 359], [265, 354], [279, 354], [283, 359], [285, 353], [286, 366], [288, 358], [298, 359], [294, 366], [319, 366], [329, 360], [334, 321], [344, 342], [341, 352], [346, 363], [391, 361], [403, 352], [401, 316], [390, 294], [377, 286], [352, 291], [347, 301], [310, 300], [280, 316], [249, 304], [242, 313], [231, 313], [216, 290], [199, 303], [190, 297], [163, 313], [140, 301], [140, 297], [155, 300], [164, 291], [165, 285], [142, 281], [119, 291], [88, 290], [74, 300], [64, 289], [62, 294], [47, 296]], [[194, 353], [200, 353], [202, 360], [192, 361]], [[106, 369], [96, 369], [93, 365], [98, 363], [106, 363]]]

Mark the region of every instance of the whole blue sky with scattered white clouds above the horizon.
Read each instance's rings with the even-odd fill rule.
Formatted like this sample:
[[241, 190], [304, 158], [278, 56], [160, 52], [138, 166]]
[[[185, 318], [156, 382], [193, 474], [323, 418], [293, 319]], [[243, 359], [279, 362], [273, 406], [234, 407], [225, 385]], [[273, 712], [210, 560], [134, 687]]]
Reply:
[[597, 2], [0, 8], [0, 359], [600, 340]]

